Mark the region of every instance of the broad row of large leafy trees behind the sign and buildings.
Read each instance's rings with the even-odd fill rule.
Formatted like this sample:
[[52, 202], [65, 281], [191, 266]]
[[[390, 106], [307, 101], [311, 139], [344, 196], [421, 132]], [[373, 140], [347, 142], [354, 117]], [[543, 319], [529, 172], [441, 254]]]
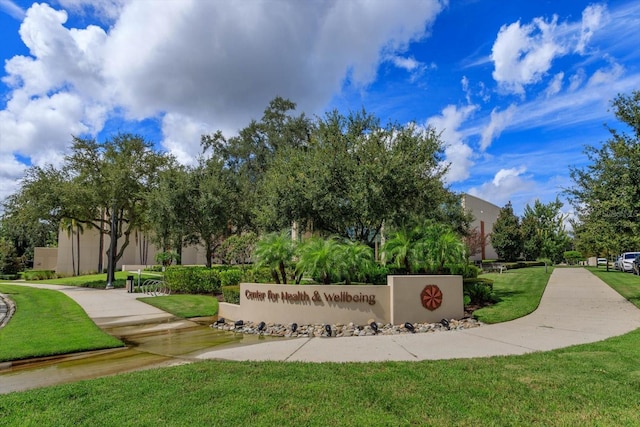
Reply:
[[[32, 257], [34, 247], [55, 245], [62, 227], [76, 242], [79, 270], [79, 235], [87, 229], [99, 231], [100, 253], [113, 264], [144, 236], [175, 259], [200, 244], [210, 265], [246, 252], [230, 241], [247, 246], [241, 236], [255, 241], [292, 225], [369, 246], [383, 230], [427, 220], [468, 234], [471, 218], [443, 183], [447, 165], [435, 129], [383, 125], [365, 110], [310, 119], [295, 107], [278, 97], [237, 136], [203, 135], [193, 166], [139, 135], [73, 137], [60, 167], [31, 167], [5, 200], [2, 247]], [[100, 257], [96, 269], [104, 267]]]

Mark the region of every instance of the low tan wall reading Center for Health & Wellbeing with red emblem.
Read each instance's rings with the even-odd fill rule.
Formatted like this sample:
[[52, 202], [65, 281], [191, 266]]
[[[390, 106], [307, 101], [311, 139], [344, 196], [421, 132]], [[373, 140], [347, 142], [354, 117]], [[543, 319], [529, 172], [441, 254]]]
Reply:
[[461, 276], [388, 276], [386, 286], [242, 283], [240, 304], [219, 306], [228, 320], [281, 324], [402, 324], [463, 314]]

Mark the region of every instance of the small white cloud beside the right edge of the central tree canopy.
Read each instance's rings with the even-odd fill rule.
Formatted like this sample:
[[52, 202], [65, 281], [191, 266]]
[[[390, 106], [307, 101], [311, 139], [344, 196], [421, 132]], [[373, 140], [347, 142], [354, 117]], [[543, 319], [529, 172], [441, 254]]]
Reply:
[[441, 115], [430, 117], [427, 120], [428, 126], [441, 132], [441, 139], [445, 143], [445, 160], [450, 163], [445, 177], [445, 181], [448, 183], [468, 178], [473, 167], [473, 150], [464, 142], [459, 128], [476, 109], [475, 105], [467, 105], [462, 108], [448, 105], [442, 110]]

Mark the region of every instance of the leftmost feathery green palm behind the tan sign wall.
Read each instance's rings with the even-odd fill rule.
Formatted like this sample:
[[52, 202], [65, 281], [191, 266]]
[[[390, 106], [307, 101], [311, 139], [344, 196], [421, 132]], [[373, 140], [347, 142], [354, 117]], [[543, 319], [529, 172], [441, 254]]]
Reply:
[[256, 266], [271, 268], [276, 284], [286, 284], [286, 266], [291, 263], [294, 253], [295, 243], [291, 240], [289, 232], [267, 234], [256, 243], [254, 252]]

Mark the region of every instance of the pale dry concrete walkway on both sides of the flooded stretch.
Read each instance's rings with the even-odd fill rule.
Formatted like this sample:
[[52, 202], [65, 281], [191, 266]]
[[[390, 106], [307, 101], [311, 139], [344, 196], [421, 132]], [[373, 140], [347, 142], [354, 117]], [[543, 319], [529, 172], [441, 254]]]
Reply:
[[[101, 327], [169, 321], [170, 314], [123, 289], [55, 285]], [[417, 361], [546, 351], [600, 341], [640, 327], [640, 310], [583, 268], [556, 268], [538, 309], [523, 318], [451, 332], [268, 340], [200, 352], [198, 359], [304, 362]]]

